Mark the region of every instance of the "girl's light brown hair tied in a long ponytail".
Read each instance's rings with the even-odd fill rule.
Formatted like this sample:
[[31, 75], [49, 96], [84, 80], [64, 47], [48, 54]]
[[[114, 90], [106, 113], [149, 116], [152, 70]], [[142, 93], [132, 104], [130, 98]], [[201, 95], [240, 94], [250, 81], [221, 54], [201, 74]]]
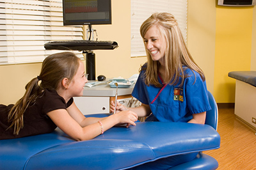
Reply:
[[12, 122], [9, 128], [14, 127], [13, 134], [19, 134], [20, 129], [24, 127], [24, 112], [35, 104], [36, 98], [44, 95], [44, 89], [56, 90], [65, 77], [69, 81], [73, 79], [79, 61], [80, 59], [73, 52], [60, 52], [44, 59], [40, 75], [28, 82], [24, 96], [16, 102], [8, 114], [8, 121]]

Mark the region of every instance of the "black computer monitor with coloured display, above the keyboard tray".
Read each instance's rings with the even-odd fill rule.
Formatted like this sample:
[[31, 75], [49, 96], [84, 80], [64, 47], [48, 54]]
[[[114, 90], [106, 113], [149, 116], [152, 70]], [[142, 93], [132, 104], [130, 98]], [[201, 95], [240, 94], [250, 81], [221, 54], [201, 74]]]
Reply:
[[111, 0], [63, 0], [63, 25], [111, 24]]

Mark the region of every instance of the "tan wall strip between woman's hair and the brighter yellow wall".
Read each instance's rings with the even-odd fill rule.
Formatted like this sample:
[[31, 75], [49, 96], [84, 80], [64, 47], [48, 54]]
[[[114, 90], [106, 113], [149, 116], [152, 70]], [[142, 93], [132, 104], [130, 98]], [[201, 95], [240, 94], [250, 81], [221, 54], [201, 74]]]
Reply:
[[188, 1], [188, 49], [204, 71], [207, 88], [211, 93], [214, 88], [215, 27], [214, 1]]

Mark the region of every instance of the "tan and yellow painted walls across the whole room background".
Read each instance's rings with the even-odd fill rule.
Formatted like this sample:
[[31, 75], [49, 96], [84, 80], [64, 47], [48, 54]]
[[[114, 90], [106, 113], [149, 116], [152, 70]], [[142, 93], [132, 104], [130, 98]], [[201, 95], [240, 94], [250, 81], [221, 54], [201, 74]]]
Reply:
[[[118, 49], [95, 50], [96, 75], [130, 77], [146, 58], [130, 58], [131, 1], [112, 0], [113, 24], [93, 26], [99, 40], [118, 42]], [[234, 102], [234, 70], [256, 70], [255, 8], [216, 6], [216, 1], [188, 1], [188, 48], [204, 70], [207, 88], [217, 102]], [[254, 28], [254, 29], [252, 29]], [[224, 49], [225, 47], [225, 49]], [[0, 104], [16, 102], [40, 72], [41, 63], [0, 66]]]

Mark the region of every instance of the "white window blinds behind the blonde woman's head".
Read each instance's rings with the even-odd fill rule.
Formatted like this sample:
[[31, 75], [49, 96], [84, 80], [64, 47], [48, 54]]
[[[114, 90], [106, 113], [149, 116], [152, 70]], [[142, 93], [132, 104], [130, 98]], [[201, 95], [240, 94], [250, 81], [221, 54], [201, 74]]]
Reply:
[[146, 56], [140, 26], [155, 12], [172, 13], [186, 40], [187, 0], [131, 0], [131, 57]]

